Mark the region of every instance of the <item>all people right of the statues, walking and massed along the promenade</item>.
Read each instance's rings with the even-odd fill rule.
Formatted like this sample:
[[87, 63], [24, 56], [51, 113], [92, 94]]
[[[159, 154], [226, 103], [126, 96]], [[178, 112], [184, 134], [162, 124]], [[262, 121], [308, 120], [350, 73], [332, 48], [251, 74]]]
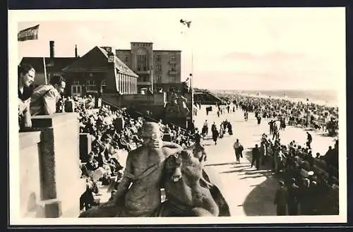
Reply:
[[[277, 104], [277, 107], [270, 106]], [[227, 109], [232, 112], [232, 108], [239, 106], [244, 111], [244, 118], [247, 120], [248, 112], [253, 112], [255, 117], [271, 118], [268, 122], [270, 133], [263, 133], [261, 142], [251, 149], [251, 167], [256, 169], [272, 169], [273, 173], [280, 179], [280, 187], [274, 196], [274, 203], [277, 206], [277, 215], [335, 215], [338, 214], [338, 139], [333, 146], [328, 147], [325, 154], [312, 154], [311, 133], [306, 132], [305, 145], [299, 145], [292, 140], [289, 144], [282, 144], [280, 130], [285, 130], [286, 126], [293, 125], [287, 111], [281, 111], [292, 103], [282, 100], [266, 102], [265, 99], [256, 97], [239, 97], [234, 99], [233, 104], [218, 106], [217, 116], [224, 114]], [[299, 104], [299, 107], [302, 106]], [[325, 106], [317, 107], [315, 110], [323, 112], [330, 109], [329, 116], [337, 116], [337, 109]], [[295, 104], [294, 104], [295, 108]], [[290, 108], [288, 108], [290, 109]], [[303, 108], [301, 108], [303, 109]], [[313, 108], [312, 108], [313, 110]], [[289, 114], [297, 114], [297, 111], [288, 111]], [[225, 122], [222, 122], [222, 124]], [[261, 120], [258, 120], [261, 123]], [[337, 121], [335, 121], [337, 123]], [[227, 122], [226, 122], [227, 124]], [[213, 128], [216, 128], [213, 123]], [[222, 138], [223, 127], [219, 134]], [[337, 130], [337, 129], [336, 129]], [[214, 131], [211, 129], [211, 131]], [[232, 129], [231, 129], [232, 131]], [[208, 132], [208, 121], [203, 125], [203, 133]], [[216, 143], [217, 144], [217, 143]], [[239, 139], [233, 145], [236, 161], [239, 164], [243, 157], [244, 147]], [[323, 204], [325, 202], [325, 204]]]

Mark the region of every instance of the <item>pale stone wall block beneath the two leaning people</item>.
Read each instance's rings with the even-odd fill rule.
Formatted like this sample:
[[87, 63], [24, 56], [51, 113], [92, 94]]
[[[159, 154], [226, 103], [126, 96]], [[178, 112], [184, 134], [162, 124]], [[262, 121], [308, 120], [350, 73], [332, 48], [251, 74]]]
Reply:
[[85, 180], [76, 114], [34, 116], [32, 129], [20, 133], [22, 216], [77, 217]]

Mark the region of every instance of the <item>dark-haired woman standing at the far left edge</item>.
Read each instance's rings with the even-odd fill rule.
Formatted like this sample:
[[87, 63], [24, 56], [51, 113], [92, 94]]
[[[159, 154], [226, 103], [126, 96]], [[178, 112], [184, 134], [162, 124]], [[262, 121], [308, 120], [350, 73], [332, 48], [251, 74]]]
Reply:
[[30, 118], [30, 96], [35, 81], [35, 68], [30, 64], [18, 66], [18, 124], [20, 130], [32, 127]]

